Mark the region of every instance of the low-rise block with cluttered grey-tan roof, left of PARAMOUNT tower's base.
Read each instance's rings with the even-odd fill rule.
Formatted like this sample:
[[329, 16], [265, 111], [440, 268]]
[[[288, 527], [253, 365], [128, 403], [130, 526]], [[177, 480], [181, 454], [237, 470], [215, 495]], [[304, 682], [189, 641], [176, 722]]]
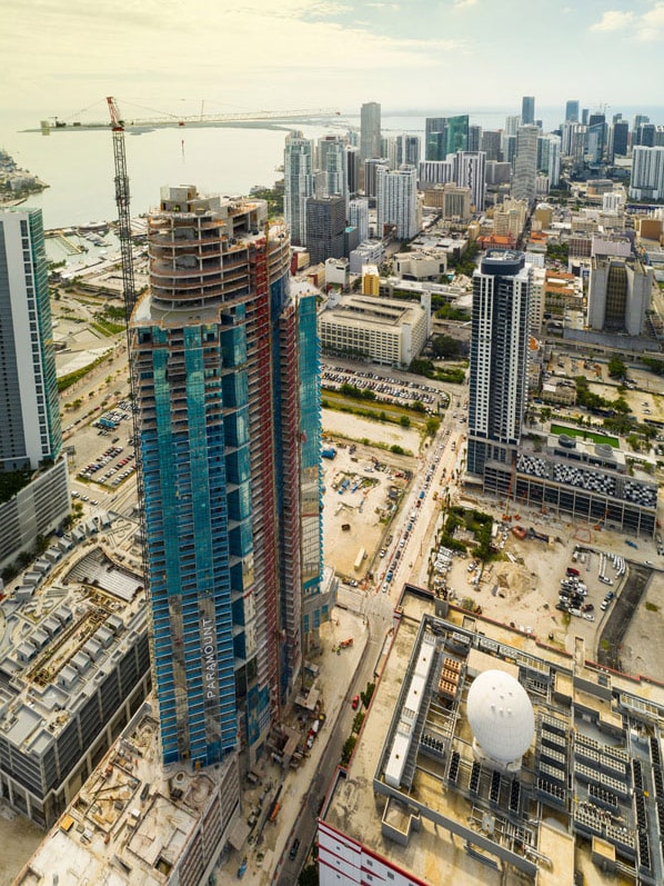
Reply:
[[0, 796], [48, 827], [149, 690], [143, 579], [94, 547], [1, 606]]

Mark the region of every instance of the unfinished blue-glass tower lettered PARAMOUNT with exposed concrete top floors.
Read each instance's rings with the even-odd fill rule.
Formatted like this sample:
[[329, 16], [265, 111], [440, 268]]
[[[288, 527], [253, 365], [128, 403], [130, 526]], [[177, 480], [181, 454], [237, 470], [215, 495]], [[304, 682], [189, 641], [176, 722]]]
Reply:
[[303, 517], [320, 520], [300, 362], [311, 317], [289, 293], [288, 232], [266, 217], [264, 201], [185, 186], [163, 188], [148, 220], [150, 289], [129, 338], [165, 764], [238, 746], [255, 760], [300, 673], [305, 588], [312, 610], [321, 587], [320, 529], [303, 548]]

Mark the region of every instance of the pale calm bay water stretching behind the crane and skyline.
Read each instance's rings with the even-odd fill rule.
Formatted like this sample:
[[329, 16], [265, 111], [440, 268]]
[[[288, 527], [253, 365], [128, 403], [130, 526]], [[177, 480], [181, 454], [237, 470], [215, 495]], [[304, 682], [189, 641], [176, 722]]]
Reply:
[[[652, 122], [664, 122], [664, 108], [610, 109], [607, 118], [621, 110], [633, 121], [646, 113]], [[427, 116], [462, 113], [460, 109], [430, 111]], [[484, 129], [504, 127], [505, 117], [519, 109], [470, 111], [471, 123]], [[556, 128], [564, 108], [537, 108], [544, 131]], [[384, 115], [386, 135], [424, 132], [423, 111]], [[37, 123], [36, 123], [37, 125]], [[331, 119], [329, 126], [301, 126], [308, 138], [359, 128], [359, 116]], [[296, 127], [293, 127], [296, 128]], [[138, 216], [159, 205], [162, 185], [195, 185], [201, 193], [245, 195], [255, 185], [272, 186], [282, 177], [284, 139], [289, 128], [158, 129], [125, 135], [127, 168], [131, 190], [131, 213]], [[110, 130], [7, 132], [1, 145], [17, 163], [49, 188], [31, 197], [26, 206], [41, 208], [47, 229], [112, 221], [117, 218], [114, 163]]]

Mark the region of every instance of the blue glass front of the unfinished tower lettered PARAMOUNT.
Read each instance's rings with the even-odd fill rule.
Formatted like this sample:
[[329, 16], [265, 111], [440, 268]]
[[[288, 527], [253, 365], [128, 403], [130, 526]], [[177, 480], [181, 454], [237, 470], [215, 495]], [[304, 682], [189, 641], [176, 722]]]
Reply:
[[245, 498], [232, 480], [242, 475], [247, 398], [238, 381], [224, 385], [219, 368], [223, 352], [243, 348], [224, 347], [214, 323], [137, 332], [148, 346], [140, 360], [141, 461], [163, 757], [209, 764], [237, 740], [229, 554], [240, 534], [229, 524], [241, 522]]

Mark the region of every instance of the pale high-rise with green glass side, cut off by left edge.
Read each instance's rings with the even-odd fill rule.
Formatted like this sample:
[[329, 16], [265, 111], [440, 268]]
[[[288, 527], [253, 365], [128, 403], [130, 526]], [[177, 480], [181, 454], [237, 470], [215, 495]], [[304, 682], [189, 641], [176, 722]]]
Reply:
[[0, 415], [3, 568], [70, 510], [40, 209], [0, 211]]

